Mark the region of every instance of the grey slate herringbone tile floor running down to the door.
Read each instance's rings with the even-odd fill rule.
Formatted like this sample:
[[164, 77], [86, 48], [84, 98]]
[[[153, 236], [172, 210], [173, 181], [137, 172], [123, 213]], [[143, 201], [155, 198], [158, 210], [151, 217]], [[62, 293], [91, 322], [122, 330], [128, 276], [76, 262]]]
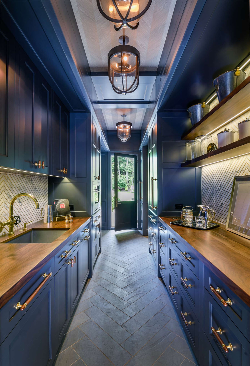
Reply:
[[80, 296], [56, 366], [194, 366], [148, 239], [102, 231], [102, 253]]

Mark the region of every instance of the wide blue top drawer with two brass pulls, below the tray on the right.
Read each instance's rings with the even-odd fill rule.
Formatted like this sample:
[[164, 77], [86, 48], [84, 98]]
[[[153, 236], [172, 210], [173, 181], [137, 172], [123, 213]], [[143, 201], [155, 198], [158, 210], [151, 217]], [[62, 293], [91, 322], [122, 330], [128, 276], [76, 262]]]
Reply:
[[193, 271], [197, 278], [199, 278], [199, 259], [196, 255], [189, 250], [185, 244], [183, 244], [179, 239], [177, 239], [177, 235], [174, 231], [170, 231], [168, 229], [168, 240], [173, 242], [176, 245], [178, 254], [180, 257], [184, 259], [187, 266]]

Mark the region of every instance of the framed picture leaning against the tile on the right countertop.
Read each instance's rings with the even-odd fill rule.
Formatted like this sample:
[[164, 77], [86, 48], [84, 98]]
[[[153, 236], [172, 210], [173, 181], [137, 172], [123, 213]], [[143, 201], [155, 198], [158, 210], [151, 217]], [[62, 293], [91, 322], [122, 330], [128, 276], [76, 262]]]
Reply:
[[226, 230], [250, 239], [250, 175], [234, 177]]

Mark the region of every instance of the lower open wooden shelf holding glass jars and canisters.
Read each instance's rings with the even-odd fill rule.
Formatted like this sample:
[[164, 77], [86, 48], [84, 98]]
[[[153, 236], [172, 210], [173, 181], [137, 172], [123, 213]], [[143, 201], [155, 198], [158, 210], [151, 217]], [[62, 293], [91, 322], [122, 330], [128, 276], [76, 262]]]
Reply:
[[217, 161], [233, 158], [250, 153], [250, 136], [220, 147], [210, 153], [201, 155], [193, 160], [182, 163], [182, 167], [201, 167], [202, 165], [217, 163]]

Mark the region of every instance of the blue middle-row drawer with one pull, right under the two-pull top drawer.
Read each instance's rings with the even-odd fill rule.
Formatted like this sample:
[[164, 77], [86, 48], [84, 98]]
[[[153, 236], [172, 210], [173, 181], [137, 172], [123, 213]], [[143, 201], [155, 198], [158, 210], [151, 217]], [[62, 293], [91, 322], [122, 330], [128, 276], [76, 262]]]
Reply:
[[181, 285], [184, 296], [188, 299], [194, 314], [196, 314], [199, 320], [199, 280], [182, 260], [180, 269], [179, 284]]

